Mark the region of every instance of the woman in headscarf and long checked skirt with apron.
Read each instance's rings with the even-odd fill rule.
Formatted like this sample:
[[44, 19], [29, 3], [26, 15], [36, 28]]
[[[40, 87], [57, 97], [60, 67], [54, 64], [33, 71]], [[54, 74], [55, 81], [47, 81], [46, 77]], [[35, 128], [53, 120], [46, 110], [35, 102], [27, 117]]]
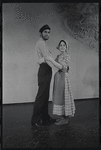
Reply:
[[68, 44], [64, 40], [61, 40], [57, 47], [60, 55], [55, 59], [63, 66], [63, 69], [59, 69], [54, 76], [53, 114], [61, 116], [60, 120], [55, 123], [56, 125], [68, 124], [69, 117], [74, 116], [75, 113], [75, 104], [68, 73], [70, 61], [68, 47]]

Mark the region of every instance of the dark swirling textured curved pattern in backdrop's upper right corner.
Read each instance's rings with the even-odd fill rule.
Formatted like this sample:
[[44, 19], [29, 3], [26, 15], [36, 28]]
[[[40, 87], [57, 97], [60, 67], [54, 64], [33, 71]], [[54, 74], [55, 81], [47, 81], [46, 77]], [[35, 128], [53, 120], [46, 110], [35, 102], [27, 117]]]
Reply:
[[58, 3], [56, 11], [62, 17], [65, 30], [77, 40], [98, 52], [99, 5], [98, 3]]

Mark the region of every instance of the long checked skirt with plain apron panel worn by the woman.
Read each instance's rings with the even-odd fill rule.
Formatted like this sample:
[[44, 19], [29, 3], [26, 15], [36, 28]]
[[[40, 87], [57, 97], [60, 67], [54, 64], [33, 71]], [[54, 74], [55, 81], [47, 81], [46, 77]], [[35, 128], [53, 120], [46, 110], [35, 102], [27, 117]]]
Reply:
[[71, 91], [69, 73], [58, 71], [54, 76], [53, 114], [74, 116], [75, 103]]

